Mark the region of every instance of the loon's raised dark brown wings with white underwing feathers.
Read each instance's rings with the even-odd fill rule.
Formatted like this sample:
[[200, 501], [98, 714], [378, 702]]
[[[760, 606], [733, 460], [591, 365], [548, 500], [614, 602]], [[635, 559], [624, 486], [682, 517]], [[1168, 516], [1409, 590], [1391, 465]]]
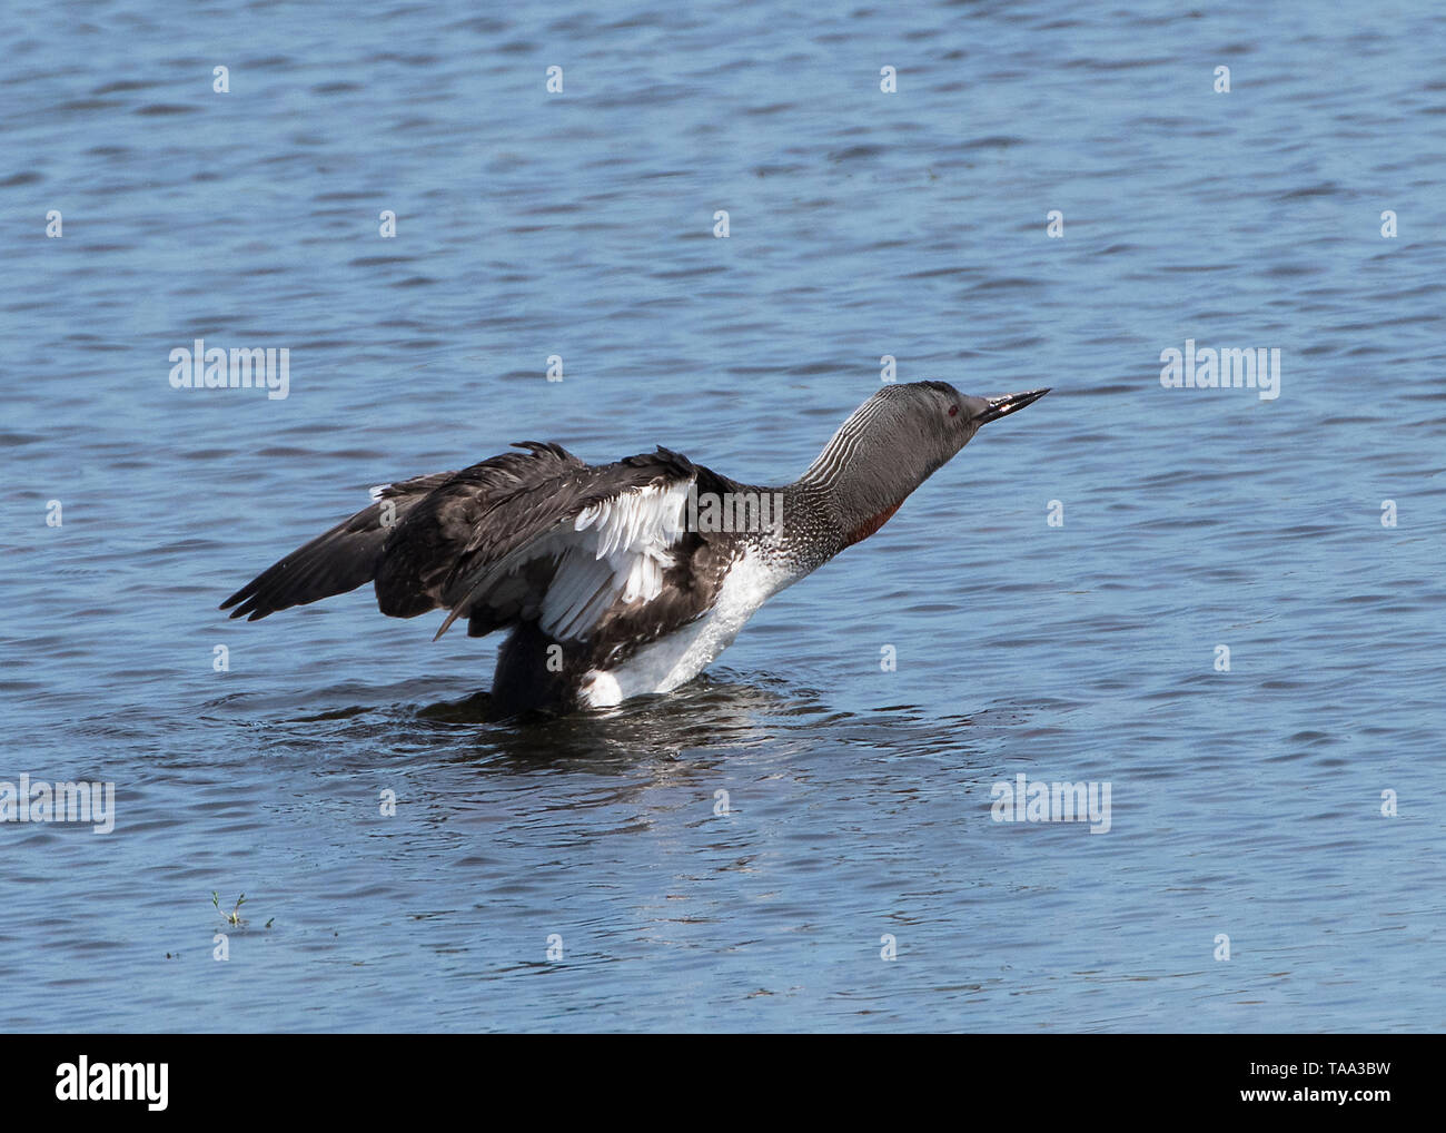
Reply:
[[474, 637], [536, 619], [557, 640], [586, 641], [609, 611], [658, 598], [700, 469], [667, 449], [591, 466], [557, 444], [515, 447], [523, 451], [376, 489], [377, 502], [288, 554], [221, 609], [236, 606], [233, 618], [254, 621], [375, 582], [377, 606], [390, 616], [445, 608], [438, 637], [466, 616]]

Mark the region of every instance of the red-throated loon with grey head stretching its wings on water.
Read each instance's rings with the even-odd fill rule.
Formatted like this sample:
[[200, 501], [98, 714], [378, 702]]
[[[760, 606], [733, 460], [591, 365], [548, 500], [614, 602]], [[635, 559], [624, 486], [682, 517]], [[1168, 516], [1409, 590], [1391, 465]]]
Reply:
[[[382, 614], [509, 631], [499, 716], [610, 709], [707, 669], [774, 595], [873, 535], [989, 421], [1048, 394], [881, 386], [790, 485], [729, 479], [659, 446], [589, 464], [521, 441], [461, 472], [372, 489], [372, 504], [233, 593], [266, 618], [372, 583]], [[434, 638], [435, 640], [435, 638]]]

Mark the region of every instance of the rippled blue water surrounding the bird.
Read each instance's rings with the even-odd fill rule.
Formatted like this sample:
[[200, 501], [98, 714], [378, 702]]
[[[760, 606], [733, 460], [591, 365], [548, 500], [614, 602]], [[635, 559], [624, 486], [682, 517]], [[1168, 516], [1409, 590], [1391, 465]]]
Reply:
[[[0, 1026], [1439, 1029], [1446, 16], [677, 7], [0, 16], [0, 778], [116, 784], [0, 828]], [[215, 611], [513, 440], [791, 479], [884, 355], [1056, 392], [674, 696], [489, 725], [492, 641]]]

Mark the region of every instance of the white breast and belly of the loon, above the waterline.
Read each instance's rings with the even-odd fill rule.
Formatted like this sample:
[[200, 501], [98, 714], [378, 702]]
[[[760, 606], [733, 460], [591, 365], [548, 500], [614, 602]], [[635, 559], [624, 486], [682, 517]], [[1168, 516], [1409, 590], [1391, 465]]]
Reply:
[[713, 664], [758, 608], [798, 577], [774, 559], [745, 554], [723, 580], [713, 609], [645, 645], [616, 669], [594, 669], [583, 680], [578, 699], [590, 708], [610, 708], [632, 696], [672, 692]]

